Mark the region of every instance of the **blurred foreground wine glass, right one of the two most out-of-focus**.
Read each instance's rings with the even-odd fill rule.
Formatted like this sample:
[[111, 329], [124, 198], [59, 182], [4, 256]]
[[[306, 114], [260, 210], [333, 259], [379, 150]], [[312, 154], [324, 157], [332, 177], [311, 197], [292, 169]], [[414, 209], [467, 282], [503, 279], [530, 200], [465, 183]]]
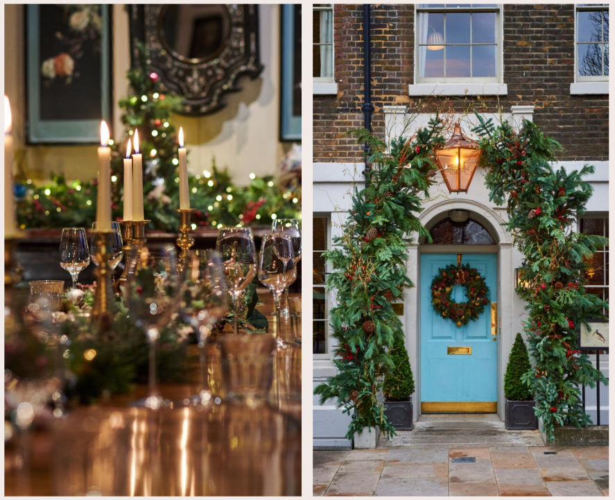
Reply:
[[215, 250], [188, 252], [184, 281], [182, 316], [196, 332], [201, 376], [198, 401], [207, 405], [211, 400], [211, 391], [207, 390], [207, 338], [229, 306], [220, 254]]

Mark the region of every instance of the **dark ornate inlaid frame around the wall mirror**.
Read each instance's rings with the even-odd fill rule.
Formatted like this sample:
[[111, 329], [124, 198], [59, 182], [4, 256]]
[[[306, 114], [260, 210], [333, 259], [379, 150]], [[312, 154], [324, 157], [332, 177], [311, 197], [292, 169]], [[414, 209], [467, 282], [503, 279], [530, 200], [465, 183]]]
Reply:
[[251, 78], [263, 71], [259, 53], [259, 10], [256, 5], [230, 4], [230, 30], [227, 40], [213, 57], [191, 59], [168, 49], [162, 40], [162, 17], [168, 6], [162, 4], [129, 6], [130, 54], [132, 66], [138, 64], [136, 44], [144, 43], [150, 69], [157, 73], [160, 89], [184, 96], [183, 114], [213, 113], [225, 106], [226, 92], [241, 90], [239, 76]]

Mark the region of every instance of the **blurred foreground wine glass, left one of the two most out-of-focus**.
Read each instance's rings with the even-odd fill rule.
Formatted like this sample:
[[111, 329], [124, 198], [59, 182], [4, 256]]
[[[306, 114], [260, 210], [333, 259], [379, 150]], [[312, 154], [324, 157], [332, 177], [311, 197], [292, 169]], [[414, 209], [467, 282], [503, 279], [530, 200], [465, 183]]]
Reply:
[[156, 410], [162, 404], [156, 379], [156, 341], [180, 300], [177, 253], [173, 245], [155, 250], [144, 246], [128, 266], [125, 301], [137, 327], [144, 329], [149, 347], [148, 395], [144, 406]]

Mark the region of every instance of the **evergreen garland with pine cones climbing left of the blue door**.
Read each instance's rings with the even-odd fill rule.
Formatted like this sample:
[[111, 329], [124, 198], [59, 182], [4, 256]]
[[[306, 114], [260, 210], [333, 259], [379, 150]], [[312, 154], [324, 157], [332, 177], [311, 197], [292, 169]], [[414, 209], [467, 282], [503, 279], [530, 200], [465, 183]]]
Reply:
[[370, 145], [373, 170], [370, 184], [354, 191], [335, 249], [325, 253], [336, 270], [327, 278], [327, 288], [336, 290], [330, 324], [338, 343], [338, 372], [314, 390], [320, 404], [337, 399], [338, 407], [354, 416], [346, 435], [351, 440], [365, 427], [395, 435], [377, 399], [381, 375], [395, 368], [389, 350], [404, 337], [391, 302], [413, 286], [406, 275], [408, 236], [417, 232], [429, 238], [418, 214], [421, 195], [434, 182], [432, 155], [444, 143], [441, 130], [436, 117], [414, 137], [393, 140], [390, 150], [367, 130], [357, 132], [359, 141]]

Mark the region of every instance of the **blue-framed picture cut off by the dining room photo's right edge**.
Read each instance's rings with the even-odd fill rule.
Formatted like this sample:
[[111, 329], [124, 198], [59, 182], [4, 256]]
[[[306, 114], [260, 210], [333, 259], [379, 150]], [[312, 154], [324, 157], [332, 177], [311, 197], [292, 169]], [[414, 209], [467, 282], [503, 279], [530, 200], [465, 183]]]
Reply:
[[281, 141], [301, 140], [301, 3], [281, 6]]

